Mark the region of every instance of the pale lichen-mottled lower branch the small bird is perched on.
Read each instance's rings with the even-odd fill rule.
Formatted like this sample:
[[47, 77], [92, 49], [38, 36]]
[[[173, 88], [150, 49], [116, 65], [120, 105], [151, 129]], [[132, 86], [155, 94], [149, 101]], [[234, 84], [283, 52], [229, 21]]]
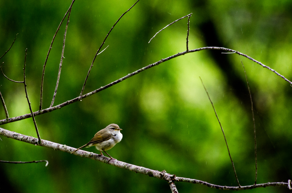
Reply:
[[[37, 138], [34, 138], [32, 136], [26, 136], [26, 135], [19, 134], [19, 133], [13, 132], [13, 131], [8, 131], [8, 130], [2, 129], [2, 128], [0, 128], [0, 135], [6, 136], [8, 138], [16, 139], [19, 141], [23, 141], [25, 143], [30, 143], [33, 145], [37, 145], [37, 141], [38, 141]], [[41, 140], [41, 141], [42, 142], [39, 146], [42, 146], [42, 147], [52, 148], [54, 150], [59, 150], [62, 152], [67, 152], [67, 153], [71, 153], [72, 151], [75, 150], [75, 148], [72, 148], [70, 146], [62, 145], [62, 144], [55, 143], [52, 141], [46, 141], [46, 140]], [[103, 162], [105, 164], [116, 166], [116, 167], [126, 169], [129, 171], [133, 171], [135, 173], [141, 173], [141, 174], [144, 174], [144, 175], [147, 175], [150, 177], [166, 180], [167, 182], [169, 182], [169, 179], [171, 179], [172, 182], [188, 182], [188, 183], [193, 183], [193, 184], [201, 184], [201, 185], [205, 185], [207, 187], [220, 189], [220, 190], [250, 190], [250, 189], [254, 189], [254, 188], [268, 187], [268, 186], [283, 186], [286, 188], [291, 187], [291, 185], [289, 185], [291, 183], [291, 180], [288, 180], [288, 183], [285, 183], [285, 182], [270, 183], [270, 182], [268, 182], [268, 183], [264, 183], [264, 184], [241, 186], [241, 187], [238, 187], [238, 186], [220, 186], [220, 185], [210, 184], [208, 182], [201, 181], [201, 180], [176, 177], [174, 174], [172, 175], [172, 174], [166, 173], [165, 171], [160, 172], [157, 170], [152, 170], [152, 169], [148, 169], [145, 167], [136, 166], [133, 164], [128, 164], [125, 162], [121, 162], [121, 161], [118, 161], [115, 159], [110, 159], [109, 157], [95, 154], [93, 152], [87, 152], [84, 150], [79, 150], [79, 151], [75, 152], [74, 155], [78, 155], [80, 157], [86, 157], [89, 159], [100, 161], [100, 162]]]

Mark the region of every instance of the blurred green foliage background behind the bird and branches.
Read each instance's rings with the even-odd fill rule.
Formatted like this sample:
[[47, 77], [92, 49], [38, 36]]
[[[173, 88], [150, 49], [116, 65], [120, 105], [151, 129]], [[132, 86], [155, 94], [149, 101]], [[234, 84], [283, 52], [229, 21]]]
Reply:
[[[0, 0], [0, 55], [4, 73], [26, 80], [34, 111], [39, 108], [41, 73], [53, 35], [70, 1]], [[93, 57], [106, 34], [134, 1], [76, 1], [70, 15], [55, 105], [78, 97]], [[292, 80], [291, 1], [140, 1], [114, 27], [88, 78], [85, 93], [186, 49], [187, 18], [193, 13], [189, 48], [220, 46], [238, 50]], [[58, 32], [44, 76], [43, 109], [48, 108], [58, 74], [65, 23]], [[254, 183], [255, 161], [251, 88], [257, 130], [258, 183], [292, 178], [291, 86], [273, 72], [235, 54], [205, 50], [143, 71], [102, 92], [36, 117], [42, 139], [78, 148], [108, 124], [123, 139], [108, 151], [114, 158], [209, 183], [236, 186], [230, 158], [204, 81], [223, 125], [241, 185]], [[24, 86], [0, 76], [9, 116], [29, 113]], [[5, 119], [0, 108], [1, 119]], [[36, 137], [32, 119], [2, 125]], [[5, 192], [170, 192], [162, 180], [101, 162], [1, 137], [0, 159], [38, 164], [0, 164]], [[94, 148], [85, 149], [99, 153]], [[179, 192], [221, 192], [176, 183]], [[249, 192], [288, 192], [266, 187]]]

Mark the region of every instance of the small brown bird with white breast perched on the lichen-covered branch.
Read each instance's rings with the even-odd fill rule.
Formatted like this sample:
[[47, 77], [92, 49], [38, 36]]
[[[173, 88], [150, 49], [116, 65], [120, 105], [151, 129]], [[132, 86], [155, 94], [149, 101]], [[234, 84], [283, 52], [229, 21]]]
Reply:
[[[121, 134], [120, 130], [122, 129], [119, 128], [119, 125], [110, 124], [104, 129], [101, 129], [100, 131], [98, 131], [88, 143], [74, 150], [72, 153], [86, 146], [87, 148], [91, 146], [95, 146], [95, 148], [100, 151], [101, 155], [103, 155], [101, 151], [105, 152], [111, 149], [122, 140], [123, 135]], [[111, 157], [111, 159], [114, 159], [107, 152], [105, 153], [109, 157]]]

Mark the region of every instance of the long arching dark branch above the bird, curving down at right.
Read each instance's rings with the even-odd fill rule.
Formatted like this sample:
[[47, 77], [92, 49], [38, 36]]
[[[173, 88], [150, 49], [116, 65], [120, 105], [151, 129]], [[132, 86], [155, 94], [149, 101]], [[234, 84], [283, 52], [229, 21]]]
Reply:
[[[141, 68], [141, 69], [139, 69], [139, 70], [137, 70], [137, 71], [134, 71], [134, 72], [132, 72], [132, 73], [130, 73], [130, 74], [128, 74], [128, 75], [126, 75], [126, 76], [124, 76], [124, 77], [122, 77], [122, 78], [120, 78], [120, 79], [118, 79], [118, 80], [116, 80], [116, 81], [114, 81], [114, 82], [112, 82], [112, 83], [109, 83], [109, 84], [107, 84], [107, 85], [105, 85], [105, 86], [103, 86], [103, 87], [100, 87], [99, 89], [96, 89], [96, 90], [94, 90], [94, 91], [92, 91], [92, 92], [89, 92], [89, 93], [87, 93], [87, 94], [84, 94], [84, 95], [82, 95], [81, 97], [76, 97], [75, 99], [71, 99], [71, 100], [66, 101], [66, 102], [64, 102], [64, 103], [61, 103], [61, 104], [59, 104], [59, 105], [57, 105], [57, 106], [53, 106], [53, 107], [50, 107], [50, 108], [46, 108], [46, 109], [44, 109], [44, 110], [36, 111], [36, 112], [34, 112], [34, 116], [36, 116], [36, 115], [41, 115], [41, 114], [44, 114], [44, 113], [51, 112], [51, 111], [53, 111], [53, 110], [60, 109], [60, 108], [62, 108], [62, 107], [64, 107], [64, 106], [67, 106], [67, 105], [69, 105], [69, 104], [75, 103], [75, 102], [77, 102], [77, 101], [80, 101], [81, 99], [84, 99], [84, 98], [89, 97], [89, 96], [91, 96], [91, 95], [93, 95], [93, 94], [95, 94], [95, 93], [98, 93], [98, 92], [100, 92], [100, 91], [102, 91], [102, 90], [105, 90], [105, 89], [107, 89], [108, 87], [111, 87], [111, 86], [113, 86], [113, 85], [116, 85], [117, 83], [120, 83], [120, 82], [122, 82], [123, 80], [126, 80], [126, 79], [130, 78], [131, 76], [134, 76], [134, 75], [136, 75], [136, 74], [138, 74], [138, 73], [140, 73], [140, 72], [142, 72], [142, 71], [144, 71], [144, 70], [147, 70], [147, 69], [150, 69], [150, 68], [152, 68], [152, 67], [154, 67], [154, 66], [157, 66], [157, 65], [159, 65], [159, 64], [161, 64], [161, 63], [163, 63], [163, 62], [166, 62], [166, 61], [168, 61], [168, 60], [170, 60], [170, 59], [173, 59], [173, 58], [176, 58], [176, 57], [178, 57], [178, 56], [182, 56], [182, 55], [185, 55], [185, 54], [188, 54], [188, 53], [191, 53], [191, 52], [198, 52], [198, 51], [201, 51], [201, 50], [225, 50], [225, 51], [228, 51], [228, 52], [234, 52], [234, 51], [235, 51], [235, 50], [231, 50], [231, 49], [228, 49], [228, 48], [220, 48], [220, 47], [204, 47], [204, 48], [198, 48], [198, 49], [194, 49], [194, 50], [189, 50], [188, 52], [187, 52], [187, 51], [179, 52], [179, 53], [177, 53], [177, 54], [175, 54], [175, 55], [172, 55], [172, 56], [167, 57], [167, 58], [165, 58], [165, 59], [161, 59], [161, 60], [159, 60], [158, 62], [155, 62], [155, 63], [150, 64], [150, 65], [148, 65], [148, 66], [145, 66], [145, 67], [143, 67], [143, 68]], [[246, 57], [246, 58], [252, 60], [253, 62], [256, 62], [256, 63], [260, 64], [261, 66], [263, 66], [263, 67], [265, 67], [265, 68], [267, 68], [267, 69], [270, 69], [271, 71], [273, 71], [273, 72], [276, 73], [278, 76], [280, 76], [281, 78], [283, 78], [284, 80], [286, 80], [287, 82], [289, 82], [289, 83], [292, 85], [292, 82], [291, 82], [290, 80], [286, 79], [284, 76], [282, 76], [281, 74], [277, 73], [275, 70], [271, 69], [270, 67], [265, 66], [265, 65], [262, 64], [261, 62], [258, 62], [257, 60], [255, 60], [255, 59], [249, 57], [248, 55], [242, 54], [242, 53], [240, 53], [240, 52], [238, 52], [238, 51], [235, 51], [235, 52], [236, 52], [238, 55], [242, 55], [242, 56], [244, 56], [244, 57]], [[29, 117], [31, 117], [31, 116], [32, 116], [31, 113], [29, 113], [29, 114], [21, 115], [21, 116], [18, 116], [18, 117], [9, 118], [8, 120], [7, 120], [7, 119], [3, 119], [3, 120], [0, 120], [0, 125], [2, 125], [2, 124], [6, 124], [6, 123], [10, 123], [10, 122], [15, 122], [15, 121], [18, 121], [18, 120], [27, 119], [27, 118], [29, 118]]]

